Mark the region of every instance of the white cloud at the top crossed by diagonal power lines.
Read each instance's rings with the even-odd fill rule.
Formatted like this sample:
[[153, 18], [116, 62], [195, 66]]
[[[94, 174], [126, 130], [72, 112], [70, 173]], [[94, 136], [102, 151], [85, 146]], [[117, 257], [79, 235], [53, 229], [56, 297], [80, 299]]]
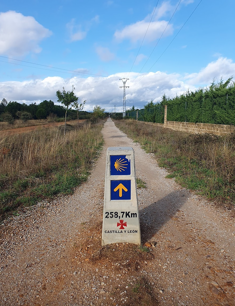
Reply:
[[[169, 1], [163, 2], [161, 6], [159, 6], [155, 13], [153, 20], [150, 23], [152, 14], [147, 15], [144, 20], [137, 21], [136, 23], [129, 24], [125, 26], [122, 30], [117, 30], [114, 33], [114, 37], [118, 42], [121, 42], [124, 39], [130, 39], [132, 43], [136, 43], [138, 40], [142, 40], [148, 28], [148, 31], [145, 36], [145, 41], [148, 42], [155, 41], [158, 39], [163, 31], [165, 30], [168, 21], [159, 20], [162, 18], [166, 13], [171, 12], [173, 10], [173, 6], [170, 5]], [[169, 24], [163, 34], [163, 36], [168, 36], [173, 33], [173, 25]]]

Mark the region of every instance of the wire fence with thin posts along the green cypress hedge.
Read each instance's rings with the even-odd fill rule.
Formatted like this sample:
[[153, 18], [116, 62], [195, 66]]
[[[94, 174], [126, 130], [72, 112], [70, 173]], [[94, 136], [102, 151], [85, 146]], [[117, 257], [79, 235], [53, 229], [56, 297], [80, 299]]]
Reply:
[[[181, 96], [166, 101], [167, 121], [235, 125], [235, 95], [190, 98]], [[138, 121], [164, 123], [164, 104], [127, 111], [126, 116]]]

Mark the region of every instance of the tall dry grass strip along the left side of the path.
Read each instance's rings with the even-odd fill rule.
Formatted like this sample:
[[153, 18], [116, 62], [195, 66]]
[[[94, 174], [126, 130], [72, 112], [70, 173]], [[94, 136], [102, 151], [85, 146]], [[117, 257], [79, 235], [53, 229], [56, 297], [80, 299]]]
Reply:
[[68, 124], [0, 136], [0, 216], [22, 204], [60, 192], [70, 193], [86, 179], [102, 146], [102, 122], [77, 129]]

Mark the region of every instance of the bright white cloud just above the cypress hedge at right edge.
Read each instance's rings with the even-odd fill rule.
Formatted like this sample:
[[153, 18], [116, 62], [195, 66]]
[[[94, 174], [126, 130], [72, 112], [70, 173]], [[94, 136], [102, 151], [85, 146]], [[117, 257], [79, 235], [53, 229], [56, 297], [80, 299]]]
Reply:
[[235, 63], [231, 59], [220, 57], [202, 68], [198, 73], [186, 75], [185, 80], [187, 80], [188, 84], [207, 86], [214, 78], [219, 80], [223, 77], [224, 80], [227, 80], [234, 74]]

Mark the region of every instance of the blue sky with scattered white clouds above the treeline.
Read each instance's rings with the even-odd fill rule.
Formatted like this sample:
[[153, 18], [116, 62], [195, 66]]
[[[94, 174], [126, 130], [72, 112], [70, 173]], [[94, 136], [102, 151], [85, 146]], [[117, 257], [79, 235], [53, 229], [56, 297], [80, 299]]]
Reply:
[[107, 112], [143, 108], [235, 75], [235, 1], [8, 0], [0, 6], [0, 100]]

